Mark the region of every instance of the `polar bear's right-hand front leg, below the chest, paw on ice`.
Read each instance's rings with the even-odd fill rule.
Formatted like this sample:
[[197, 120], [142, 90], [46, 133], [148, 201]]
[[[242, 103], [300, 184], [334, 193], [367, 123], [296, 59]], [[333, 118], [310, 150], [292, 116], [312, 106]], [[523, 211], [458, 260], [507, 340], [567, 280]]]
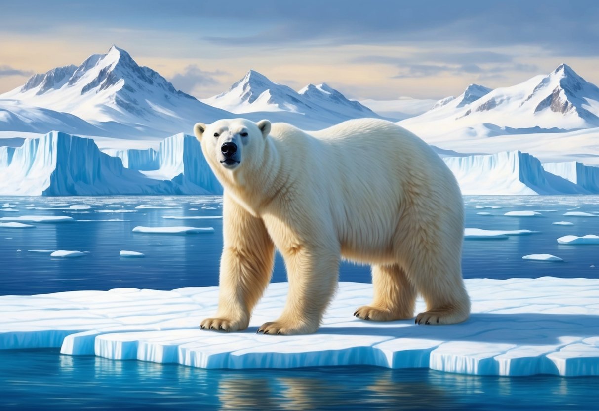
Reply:
[[289, 279], [287, 303], [281, 316], [262, 324], [258, 333], [311, 334], [320, 327], [337, 287], [339, 254], [322, 247], [282, 250]]

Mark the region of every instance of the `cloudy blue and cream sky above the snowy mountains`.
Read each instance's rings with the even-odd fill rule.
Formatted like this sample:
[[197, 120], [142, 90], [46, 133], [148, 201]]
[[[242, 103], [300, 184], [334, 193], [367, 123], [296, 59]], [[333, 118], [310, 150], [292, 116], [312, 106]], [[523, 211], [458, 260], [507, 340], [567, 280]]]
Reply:
[[254, 69], [296, 90], [439, 99], [562, 62], [599, 84], [599, 1], [0, 1], [0, 93], [113, 44], [198, 98]]

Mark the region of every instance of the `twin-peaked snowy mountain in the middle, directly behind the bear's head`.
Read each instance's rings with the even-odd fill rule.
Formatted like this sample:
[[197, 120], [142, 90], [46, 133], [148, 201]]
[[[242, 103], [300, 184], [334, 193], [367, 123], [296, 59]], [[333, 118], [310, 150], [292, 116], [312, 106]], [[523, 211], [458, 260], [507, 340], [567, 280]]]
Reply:
[[291, 123], [297, 118], [294, 114], [327, 125], [359, 117], [380, 117], [370, 108], [347, 99], [327, 84], [308, 84], [296, 92], [254, 70], [235, 81], [228, 91], [202, 101], [232, 113], [270, 113], [270, 117], [276, 121]]

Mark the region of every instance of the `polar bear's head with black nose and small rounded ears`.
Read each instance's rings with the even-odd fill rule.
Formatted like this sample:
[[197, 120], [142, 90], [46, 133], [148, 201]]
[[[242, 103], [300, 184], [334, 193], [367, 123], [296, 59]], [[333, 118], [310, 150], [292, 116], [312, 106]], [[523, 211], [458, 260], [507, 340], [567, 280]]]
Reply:
[[237, 170], [249, 159], [262, 158], [270, 128], [268, 120], [225, 119], [208, 125], [196, 123], [193, 134], [213, 170]]

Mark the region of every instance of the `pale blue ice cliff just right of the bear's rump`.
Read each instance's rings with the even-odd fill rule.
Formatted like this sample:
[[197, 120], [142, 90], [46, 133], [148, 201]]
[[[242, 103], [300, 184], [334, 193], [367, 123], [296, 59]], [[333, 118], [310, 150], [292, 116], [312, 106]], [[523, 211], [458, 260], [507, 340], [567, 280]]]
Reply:
[[548, 173], [536, 157], [520, 151], [444, 157], [462, 194], [591, 194], [585, 187]]

